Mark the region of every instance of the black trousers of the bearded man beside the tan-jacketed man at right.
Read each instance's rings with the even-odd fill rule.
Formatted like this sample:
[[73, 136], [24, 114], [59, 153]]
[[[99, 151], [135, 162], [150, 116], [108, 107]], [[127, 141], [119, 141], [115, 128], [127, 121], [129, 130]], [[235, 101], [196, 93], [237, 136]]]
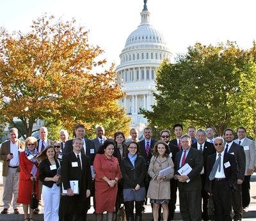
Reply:
[[236, 190], [232, 192], [232, 207], [234, 210], [234, 220], [242, 218], [242, 190], [241, 184], [236, 183]]

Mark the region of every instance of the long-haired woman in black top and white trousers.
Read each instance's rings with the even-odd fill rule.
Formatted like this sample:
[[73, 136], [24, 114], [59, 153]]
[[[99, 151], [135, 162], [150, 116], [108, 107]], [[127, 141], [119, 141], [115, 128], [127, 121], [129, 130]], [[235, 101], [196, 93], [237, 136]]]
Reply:
[[40, 160], [39, 179], [43, 183], [44, 220], [59, 220], [60, 187], [56, 182], [60, 179], [57, 174], [60, 164], [56, 160], [54, 146], [47, 146], [38, 159]]

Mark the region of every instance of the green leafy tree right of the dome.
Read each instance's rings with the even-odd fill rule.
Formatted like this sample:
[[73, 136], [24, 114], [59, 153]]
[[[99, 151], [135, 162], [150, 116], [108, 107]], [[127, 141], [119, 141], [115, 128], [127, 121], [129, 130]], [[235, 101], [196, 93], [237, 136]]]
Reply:
[[[251, 99], [255, 95], [254, 64], [248, 60], [246, 51], [233, 42], [216, 47], [196, 43], [186, 54], [177, 56], [175, 63], [161, 64], [156, 77], [156, 105], [152, 112], [143, 114], [157, 128], [172, 128], [175, 123], [211, 125], [218, 135], [227, 127], [243, 124], [251, 128], [249, 114], [238, 119], [239, 112], [255, 107]], [[246, 89], [249, 81], [252, 95]], [[241, 105], [243, 97], [248, 100], [246, 108]]]

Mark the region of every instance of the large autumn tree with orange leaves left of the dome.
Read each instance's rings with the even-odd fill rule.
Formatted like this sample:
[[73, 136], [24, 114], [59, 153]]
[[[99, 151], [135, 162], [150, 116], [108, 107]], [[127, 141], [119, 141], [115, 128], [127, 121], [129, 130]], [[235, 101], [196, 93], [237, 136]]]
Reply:
[[15, 119], [20, 119], [26, 136], [36, 119], [68, 130], [84, 123], [92, 132], [98, 124], [108, 135], [127, 132], [130, 119], [116, 103], [124, 94], [114, 65], [105, 68], [100, 55], [100, 47], [90, 45], [88, 32], [76, 20], [44, 15], [25, 34], [1, 28], [1, 123], [17, 126]]

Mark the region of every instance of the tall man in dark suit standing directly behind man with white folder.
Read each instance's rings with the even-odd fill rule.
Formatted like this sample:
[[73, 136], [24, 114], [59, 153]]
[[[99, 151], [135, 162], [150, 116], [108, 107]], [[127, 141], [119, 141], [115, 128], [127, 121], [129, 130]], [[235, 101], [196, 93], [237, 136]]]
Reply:
[[[93, 160], [96, 154], [94, 142], [84, 138], [85, 136], [84, 125], [76, 125], [75, 133], [76, 133], [76, 138], [79, 137], [83, 140], [83, 148], [81, 149], [81, 153], [85, 154], [86, 156], [89, 156], [91, 165], [93, 165]], [[65, 148], [63, 150], [63, 155], [72, 151], [73, 149], [72, 142], [73, 142], [73, 139], [66, 142]]]

